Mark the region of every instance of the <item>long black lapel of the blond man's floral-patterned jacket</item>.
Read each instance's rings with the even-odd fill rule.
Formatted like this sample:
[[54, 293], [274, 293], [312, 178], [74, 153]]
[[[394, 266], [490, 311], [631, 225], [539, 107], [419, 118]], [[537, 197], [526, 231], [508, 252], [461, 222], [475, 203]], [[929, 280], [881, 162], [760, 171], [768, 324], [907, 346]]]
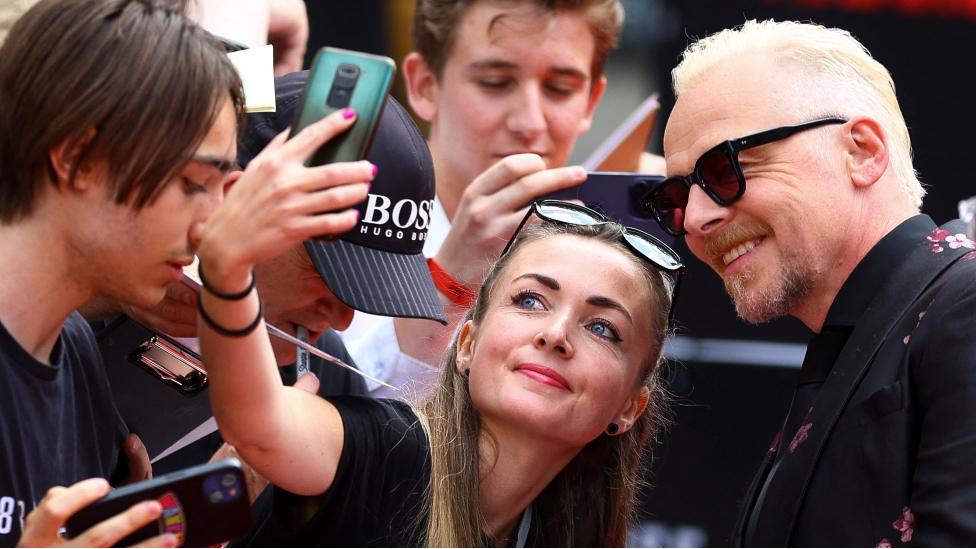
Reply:
[[[964, 226], [958, 221], [947, 223], [942, 228], [951, 234], [965, 233]], [[901, 268], [885, 281], [837, 357], [807, 421], [812, 424], [807, 431], [807, 439], [797, 446], [793, 455], [784, 457], [776, 475], [770, 479], [766, 505], [757, 510], [762, 513], [758, 523], [762, 531], [753, 535], [757, 544], [774, 547], [790, 544], [797, 514], [824, 444], [874, 356], [932, 281], [971, 251], [967, 248], [951, 249], [943, 242], [942, 251], [935, 253], [932, 246], [933, 243], [923, 237], [919, 246], [906, 254]], [[789, 451], [790, 441], [783, 440], [780, 444], [785, 445], [784, 451]]]

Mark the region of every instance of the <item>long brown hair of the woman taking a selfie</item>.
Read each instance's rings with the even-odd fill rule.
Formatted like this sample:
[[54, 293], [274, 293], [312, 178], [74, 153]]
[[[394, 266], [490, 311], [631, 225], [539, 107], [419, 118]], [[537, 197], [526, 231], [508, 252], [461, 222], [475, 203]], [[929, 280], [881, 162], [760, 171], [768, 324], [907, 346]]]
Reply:
[[[493, 266], [465, 320], [476, 325], [485, 317], [501, 273], [525, 244], [555, 235], [593, 238], [633, 257], [652, 296], [649, 359], [641, 382], [650, 399], [644, 413], [626, 433], [601, 435], [590, 442], [542, 491], [532, 504], [530, 542], [541, 546], [622, 546], [635, 518], [635, 499], [642, 483], [647, 445], [668, 424], [668, 393], [660, 378], [661, 350], [668, 330], [673, 282], [654, 266], [633, 256], [621, 243], [615, 223], [582, 227], [542, 224], [525, 228], [512, 249]], [[441, 380], [419, 410], [431, 445], [431, 482], [427, 493], [429, 547], [485, 545], [485, 521], [479, 509], [479, 421], [471, 403], [467, 377], [457, 368], [457, 338], [445, 354]], [[423, 527], [424, 525], [419, 525]]]

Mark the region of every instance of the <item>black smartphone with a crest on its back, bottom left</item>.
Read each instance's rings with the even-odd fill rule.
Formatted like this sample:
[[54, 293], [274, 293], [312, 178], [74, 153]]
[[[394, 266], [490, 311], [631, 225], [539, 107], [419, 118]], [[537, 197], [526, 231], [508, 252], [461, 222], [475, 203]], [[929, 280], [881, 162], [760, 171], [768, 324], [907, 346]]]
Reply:
[[178, 546], [205, 547], [240, 537], [251, 527], [241, 462], [225, 459], [112, 490], [68, 519], [67, 536], [76, 537], [132, 505], [152, 499], [163, 505], [163, 514], [116, 547], [166, 533], [176, 535]]

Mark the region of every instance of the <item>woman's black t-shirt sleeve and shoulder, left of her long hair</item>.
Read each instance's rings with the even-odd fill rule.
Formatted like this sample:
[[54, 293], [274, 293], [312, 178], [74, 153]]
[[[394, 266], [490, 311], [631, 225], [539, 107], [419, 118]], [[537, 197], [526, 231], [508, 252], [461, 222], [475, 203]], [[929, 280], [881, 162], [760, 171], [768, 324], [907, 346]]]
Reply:
[[[426, 532], [430, 445], [416, 414], [397, 400], [333, 397], [345, 439], [335, 481], [314, 497], [266, 490], [274, 513], [243, 545], [417, 547]], [[310, 517], [310, 518], [307, 518]]]

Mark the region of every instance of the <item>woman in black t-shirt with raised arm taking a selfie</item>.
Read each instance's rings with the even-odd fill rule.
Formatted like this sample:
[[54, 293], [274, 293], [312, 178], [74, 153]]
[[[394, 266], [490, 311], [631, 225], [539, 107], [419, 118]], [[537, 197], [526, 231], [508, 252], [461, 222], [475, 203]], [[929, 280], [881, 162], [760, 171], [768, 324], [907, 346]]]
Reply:
[[[217, 292], [247, 288], [241, 273], [276, 248], [211, 260], [207, 238], [202, 268]], [[252, 242], [268, 239], [240, 245]], [[681, 268], [664, 244], [592, 210], [533, 205], [416, 408], [282, 386], [259, 320], [218, 333], [255, 323], [255, 292], [204, 291], [214, 413], [277, 486], [286, 518], [275, 520], [292, 543], [623, 545], [645, 446], [665, 423], [658, 365]], [[262, 539], [258, 525], [247, 541]]]

